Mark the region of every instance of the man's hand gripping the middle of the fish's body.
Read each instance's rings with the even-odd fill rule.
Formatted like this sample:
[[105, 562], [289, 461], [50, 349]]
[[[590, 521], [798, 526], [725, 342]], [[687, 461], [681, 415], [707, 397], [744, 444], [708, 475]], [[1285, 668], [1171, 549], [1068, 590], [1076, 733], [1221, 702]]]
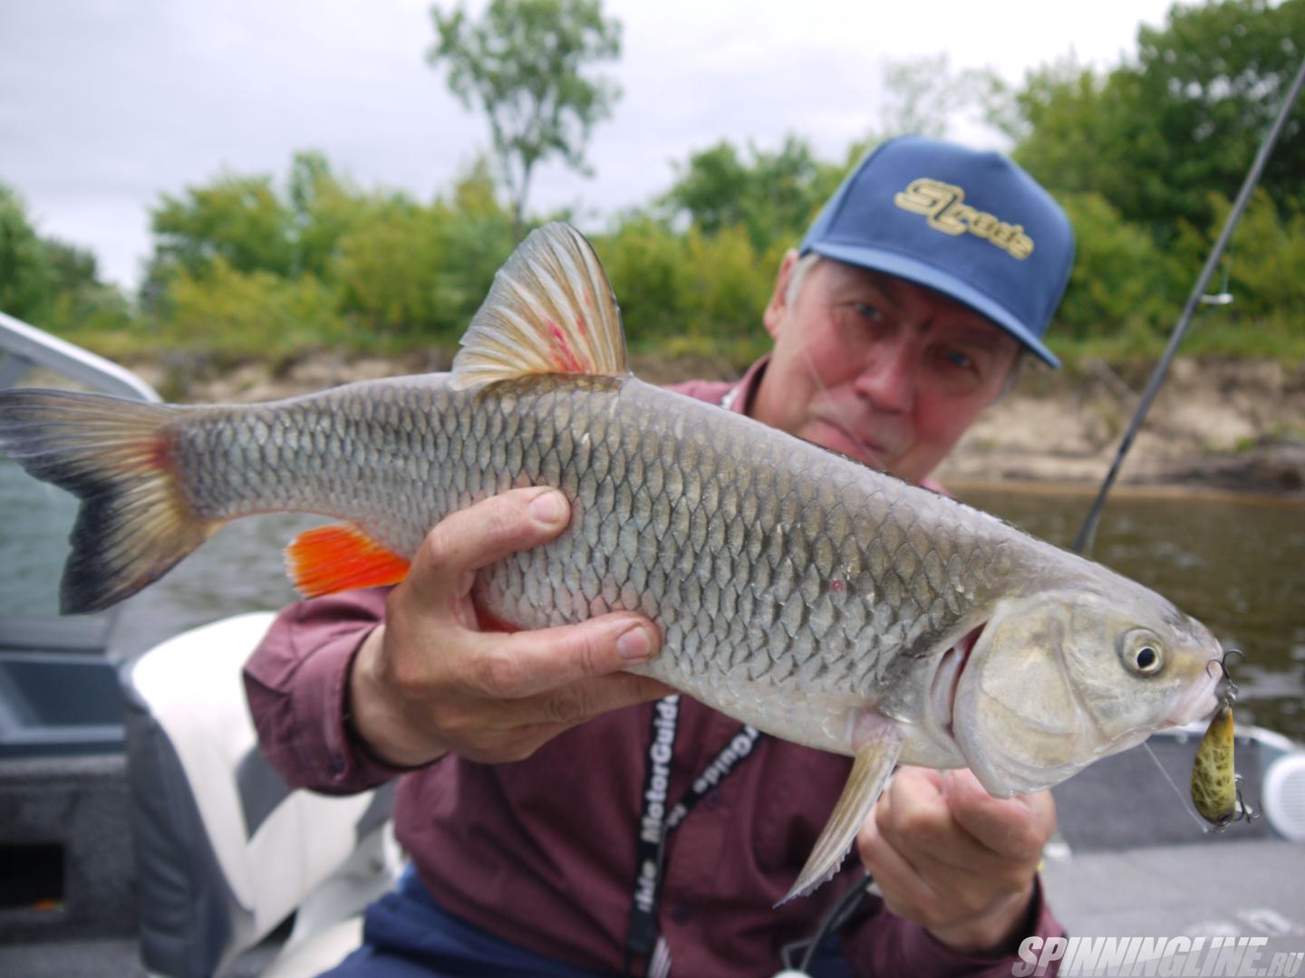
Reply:
[[354, 730], [372, 754], [405, 767], [448, 751], [519, 760], [569, 726], [671, 691], [617, 672], [660, 645], [656, 627], [637, 614], [538, 631], [480, 630], [471, 601], [476, 570], [552, 540], [569, 519], [561, 493], [514, 489], [431, 531], [350, 673]]

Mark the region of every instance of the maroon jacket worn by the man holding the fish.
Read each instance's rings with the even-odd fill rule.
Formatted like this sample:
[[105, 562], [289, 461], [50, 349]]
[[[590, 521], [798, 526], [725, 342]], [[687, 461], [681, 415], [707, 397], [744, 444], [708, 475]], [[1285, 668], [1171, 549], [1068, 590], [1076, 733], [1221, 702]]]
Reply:
[[[744, 412], [765, 363], [740, 382]], [[679, 387], [720, 402], [729, 383]], [[401, 776], [399, 841], [449, 913], [529, 951], [581, 968], [622, 966], [636, 876], [636, 829], [654, 704], [612, 711], [531, 758], [475, 764], [448, 755], [415, 772], [378, 764], [346, 737], [350, 664], [385, 613], [385, 591], [301, 601], [277, 618], [245, 666], [262, 750], [294, 786], [348, 794]], [[681, 698], [667, 797], [739, 732], [739, 722]], [[770, 975], [780, 948], [809, 938], [850, 885], [855, 855], [814, 895], [778, 909], [834, 807], [851, 759], [763, 737], [671, 835], [659, 904], [672, 974]], [[859, 974], [1002, 975], [1018, 958], [955, 953], [877, 898], [843, 928]], [[1030, 934], [1061, 934], [1034, 897]]]

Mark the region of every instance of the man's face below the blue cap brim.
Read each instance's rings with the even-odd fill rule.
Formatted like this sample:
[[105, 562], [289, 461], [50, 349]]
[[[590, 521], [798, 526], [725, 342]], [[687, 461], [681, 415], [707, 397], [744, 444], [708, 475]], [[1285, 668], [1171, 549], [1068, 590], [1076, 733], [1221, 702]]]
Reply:
[[752, 416], [919, 482], [1001, 393], [1018, 342], [932, 289], [833, 259], [790, 303], [795, 262], [766, 306], [775, 351]]

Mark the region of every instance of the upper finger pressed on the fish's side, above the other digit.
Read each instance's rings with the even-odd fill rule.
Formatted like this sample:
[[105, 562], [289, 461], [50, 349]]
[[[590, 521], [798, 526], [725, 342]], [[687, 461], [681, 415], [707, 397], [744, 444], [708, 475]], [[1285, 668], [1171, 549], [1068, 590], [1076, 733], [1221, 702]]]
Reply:
[[410, 583], [432, 601], [466, 597], [475, 571], [547, 544], [570, 519], [566, 497], [547, 486], [510, 489], [445, 516], [412, 558]]

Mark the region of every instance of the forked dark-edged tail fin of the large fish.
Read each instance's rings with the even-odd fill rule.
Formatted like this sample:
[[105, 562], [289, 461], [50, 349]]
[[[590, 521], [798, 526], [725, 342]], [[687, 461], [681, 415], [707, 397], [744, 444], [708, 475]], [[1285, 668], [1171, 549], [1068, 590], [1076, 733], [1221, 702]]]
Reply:
[[81, 499], [59, 591], [64, 614], [130, 597], [218, 528], [181, 486], [170, 426], [181, 411], [107, 394], [0, 391], [0, 451]]

